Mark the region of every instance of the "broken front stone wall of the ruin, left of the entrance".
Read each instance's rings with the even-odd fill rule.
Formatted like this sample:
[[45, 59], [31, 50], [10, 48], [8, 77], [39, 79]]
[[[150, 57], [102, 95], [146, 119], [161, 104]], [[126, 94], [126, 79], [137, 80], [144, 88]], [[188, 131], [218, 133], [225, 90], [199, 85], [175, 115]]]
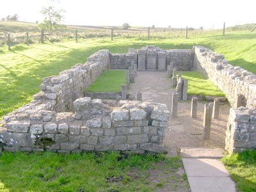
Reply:
[[75, 113], [40, 110], [36, 116], [17, 113], [6, 120], [0, 141], [7, 151], [163, 152], [163, 138], [169, 111], [164, 104], [118, 102], [118, 108], [105, 106], [90, 97], [74, 102]]

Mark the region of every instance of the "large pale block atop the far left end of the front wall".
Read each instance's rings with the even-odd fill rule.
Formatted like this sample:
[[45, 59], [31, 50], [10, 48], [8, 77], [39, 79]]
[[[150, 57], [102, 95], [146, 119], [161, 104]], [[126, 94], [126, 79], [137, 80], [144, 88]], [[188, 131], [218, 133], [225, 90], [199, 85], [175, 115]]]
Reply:
[[30, 120], [12, 121], [5, 125], [8, 132], [28, 132]]

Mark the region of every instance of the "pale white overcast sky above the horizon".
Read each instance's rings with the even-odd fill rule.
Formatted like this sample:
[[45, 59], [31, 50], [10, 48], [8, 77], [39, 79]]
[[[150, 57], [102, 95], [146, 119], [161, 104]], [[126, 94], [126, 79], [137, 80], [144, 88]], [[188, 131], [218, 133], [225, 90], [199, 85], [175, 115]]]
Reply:
[[[57, 0], [63, 24], [84, 26], [152, 26], [217, 29], [256, 22], [256, 0]], [[19, 15], [19, 20], [42, 21], [42, 7], [49, 0], [0, 0], [0, 19]]]

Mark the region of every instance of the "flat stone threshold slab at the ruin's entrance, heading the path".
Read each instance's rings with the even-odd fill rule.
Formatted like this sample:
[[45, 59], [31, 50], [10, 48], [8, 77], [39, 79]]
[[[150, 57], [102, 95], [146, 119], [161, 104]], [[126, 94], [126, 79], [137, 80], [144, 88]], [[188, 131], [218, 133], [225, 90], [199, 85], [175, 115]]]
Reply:
[[180, 156], [182, 158], [220, 159], [224, 156], [224, 150], [223, 148], [180, 148]]

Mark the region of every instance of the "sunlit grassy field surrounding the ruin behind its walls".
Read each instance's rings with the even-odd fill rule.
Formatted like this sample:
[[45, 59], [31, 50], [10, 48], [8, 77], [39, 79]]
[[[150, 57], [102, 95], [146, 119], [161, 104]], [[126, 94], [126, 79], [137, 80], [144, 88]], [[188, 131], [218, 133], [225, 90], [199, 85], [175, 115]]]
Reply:
[[99, 49], [127, 52], [130, 47], [157, 45], [163, 49], [192, 49], [193, 45], [204, 45], [221, 54], [232, 65], [241, 66], [256, 74], [256, 33], [234, 33], [203, 38], [150, 39], [145, 38], [92, 38], [65, 40], [54, 44], [16, 45], [12, 51], [0, 47], [0, 118], [28, 103], [39, 91], [42, 78], [76, 63], [85, 63], [88, 56]]

